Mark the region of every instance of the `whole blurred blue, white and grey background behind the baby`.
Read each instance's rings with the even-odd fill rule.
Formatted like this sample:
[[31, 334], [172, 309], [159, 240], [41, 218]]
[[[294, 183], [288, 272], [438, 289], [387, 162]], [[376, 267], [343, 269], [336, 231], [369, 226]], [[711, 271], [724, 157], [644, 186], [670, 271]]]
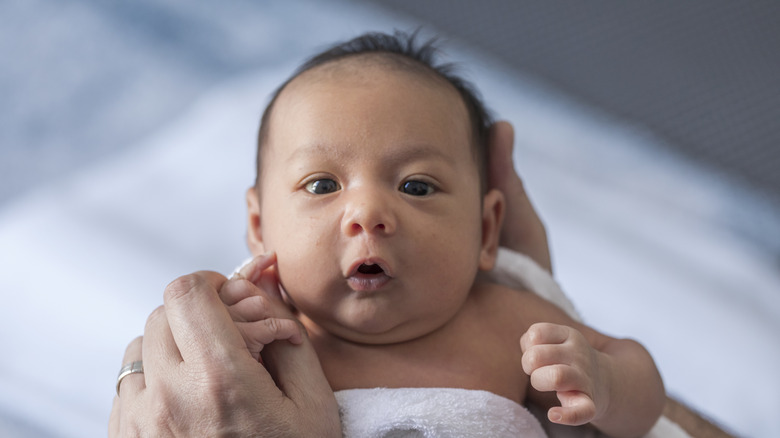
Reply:
[[175, 277], [247, 255], [269, 94], [369, 30], [422, 28], [516, 129], [556, 278], [669, 392], [780, 434], [773, 2], [0, 2], [0, 434], [104, 436]]

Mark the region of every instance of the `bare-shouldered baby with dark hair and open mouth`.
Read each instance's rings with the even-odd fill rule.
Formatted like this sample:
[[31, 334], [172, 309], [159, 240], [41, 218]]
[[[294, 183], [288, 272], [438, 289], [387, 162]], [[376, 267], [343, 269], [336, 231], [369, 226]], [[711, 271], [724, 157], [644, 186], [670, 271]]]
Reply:
[[[434, 54], [414, 36], [367, 34], [277, 90], [247, 193], [258, 258], [239, 278], [281, 291], [334, 391], [482, 390], [554, 423], [645, 433], [664, 389], [641, 345], [483, 279], [504, 214], [486, 183], [490, 121]], [[303, 342], [298, 322], [230, 289], [234, 319], [264, 321], [241, 326], [259, 360], [267, 343]]]

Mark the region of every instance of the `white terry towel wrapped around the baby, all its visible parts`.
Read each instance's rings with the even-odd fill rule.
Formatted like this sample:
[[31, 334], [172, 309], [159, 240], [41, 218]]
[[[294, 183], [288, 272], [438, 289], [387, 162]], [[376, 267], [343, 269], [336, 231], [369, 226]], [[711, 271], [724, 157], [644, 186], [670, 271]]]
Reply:
[[[522, 254], [502, 248], [492, 278], [509, 287], [531, 290], [560, 306], [572, 318], [580, 319], [547, 271]], [[524, 406], [486, 391], [456, 388], [350, 389], [336, 392], [336, 399], [345, 437], [603, 436], [589, 426], [552, 424], [545, 412], [535, 409], [535, 417]], [[688, 434], [664, 417], [645, 436], [683, 437], [688, 437]]]

